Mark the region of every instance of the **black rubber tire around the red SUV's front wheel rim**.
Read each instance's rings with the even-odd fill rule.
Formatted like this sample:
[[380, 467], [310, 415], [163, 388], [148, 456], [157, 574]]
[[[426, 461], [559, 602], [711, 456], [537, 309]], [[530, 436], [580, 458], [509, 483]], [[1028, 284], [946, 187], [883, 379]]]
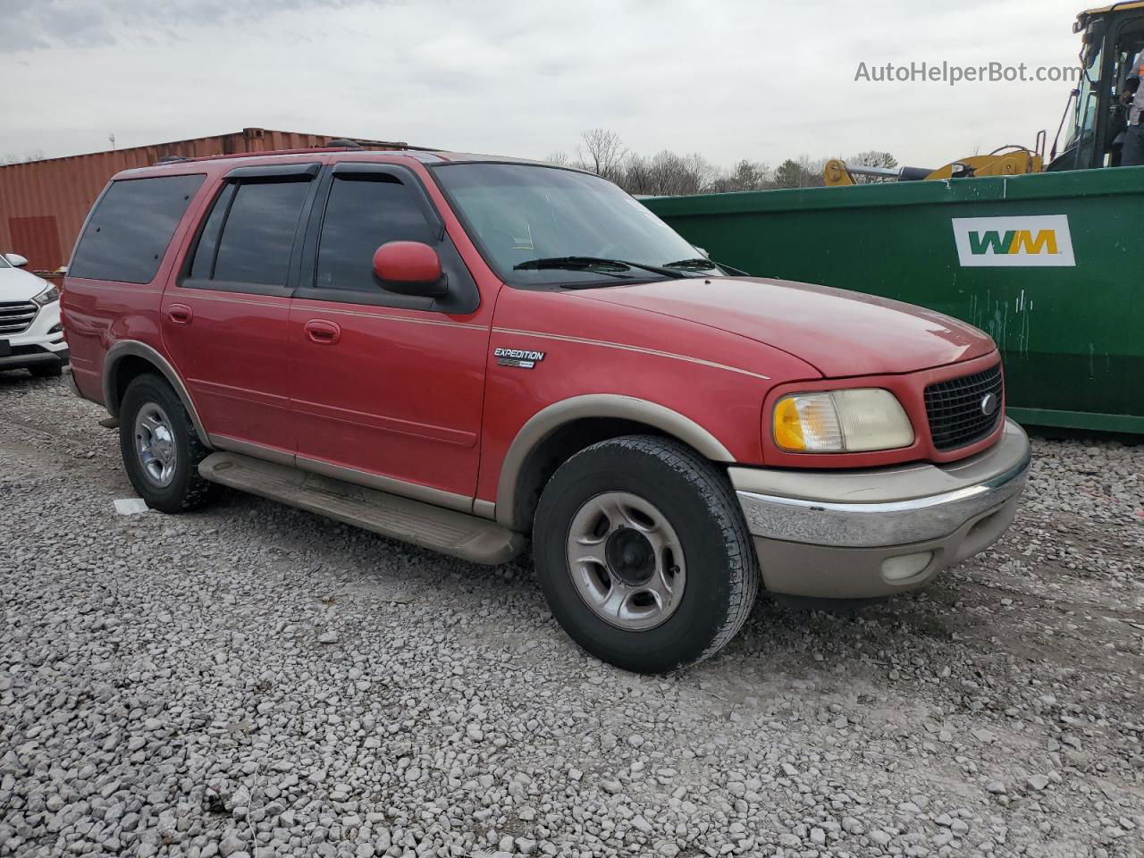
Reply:
[[[683, 549], [682, 596], [653, 628], [605, 621], [573, 580], [573, 521], [591, 499], [613, 492], [651, 502]], [[596, 658], [636, 673], [668, 673], [713, 656], [746, 622], [758, 591], [758, 562], [726, 476], [690, 447], [652, 436], [601, 442], [561, 466], [537, 508], [533, 556], [567, 634]]]

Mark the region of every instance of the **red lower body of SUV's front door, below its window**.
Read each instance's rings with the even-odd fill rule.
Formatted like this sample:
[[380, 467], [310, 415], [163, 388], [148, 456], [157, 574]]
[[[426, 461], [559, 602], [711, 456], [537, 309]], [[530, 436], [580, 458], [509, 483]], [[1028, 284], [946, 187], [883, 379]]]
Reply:
[[[289, 379], [297, 454], [471, 498], [488, 328], [451, 317], [295, 300]], [[336, 324], [336, 343], [305, 326]]]

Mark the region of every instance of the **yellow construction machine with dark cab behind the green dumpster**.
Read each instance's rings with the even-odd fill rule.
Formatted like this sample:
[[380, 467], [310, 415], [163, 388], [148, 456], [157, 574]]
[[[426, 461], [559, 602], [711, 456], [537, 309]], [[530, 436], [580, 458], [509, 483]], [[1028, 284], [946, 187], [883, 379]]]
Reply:
[[[1077, 16], [1073, 32], [1081, 37], [1081, 74], [1065, 105], [1057, 136], [1048, 157], [1047, 134], [1036, 135], [1033, 148], [1002, 146], [988, 154], [951, 161], [938, 169], [923, 167], [875, 167], [826, 162], [823, 180], [827, 185], [858, 184], [863, 181], [913, 182], [930, 178], [969, 176], [1016, 176], [1044, 170], [1096, 169], [1120, 164], [1120, 148], [1127, 127], [1127, 110], [1121, 94], [1133, 62], [1144, 49], [1144, 2], [1122, 2], [1089, 9]], [[1062, 133], [1068, 126], [1063, 146]], [[1059, 146], [1059, 151], [1058, 151]]]

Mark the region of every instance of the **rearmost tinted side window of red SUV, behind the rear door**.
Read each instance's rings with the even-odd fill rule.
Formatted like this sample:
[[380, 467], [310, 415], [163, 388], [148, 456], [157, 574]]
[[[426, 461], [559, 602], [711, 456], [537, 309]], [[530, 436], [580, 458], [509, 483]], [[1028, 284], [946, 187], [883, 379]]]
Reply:
[[206, 176], [156, 176], [113, 182], [76, 248], [69, 273], [94, 280], [150, 283], [175, 228]]

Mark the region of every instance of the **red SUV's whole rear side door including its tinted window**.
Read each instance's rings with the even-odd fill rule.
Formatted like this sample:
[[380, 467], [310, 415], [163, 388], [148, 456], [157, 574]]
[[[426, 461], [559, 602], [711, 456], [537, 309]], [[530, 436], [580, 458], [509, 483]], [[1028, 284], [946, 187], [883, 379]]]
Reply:
[[215, 446], [288, 459], [291, 292], [318, 164], [239, 167], [222, 182], [176, 286], [164, 342]]

